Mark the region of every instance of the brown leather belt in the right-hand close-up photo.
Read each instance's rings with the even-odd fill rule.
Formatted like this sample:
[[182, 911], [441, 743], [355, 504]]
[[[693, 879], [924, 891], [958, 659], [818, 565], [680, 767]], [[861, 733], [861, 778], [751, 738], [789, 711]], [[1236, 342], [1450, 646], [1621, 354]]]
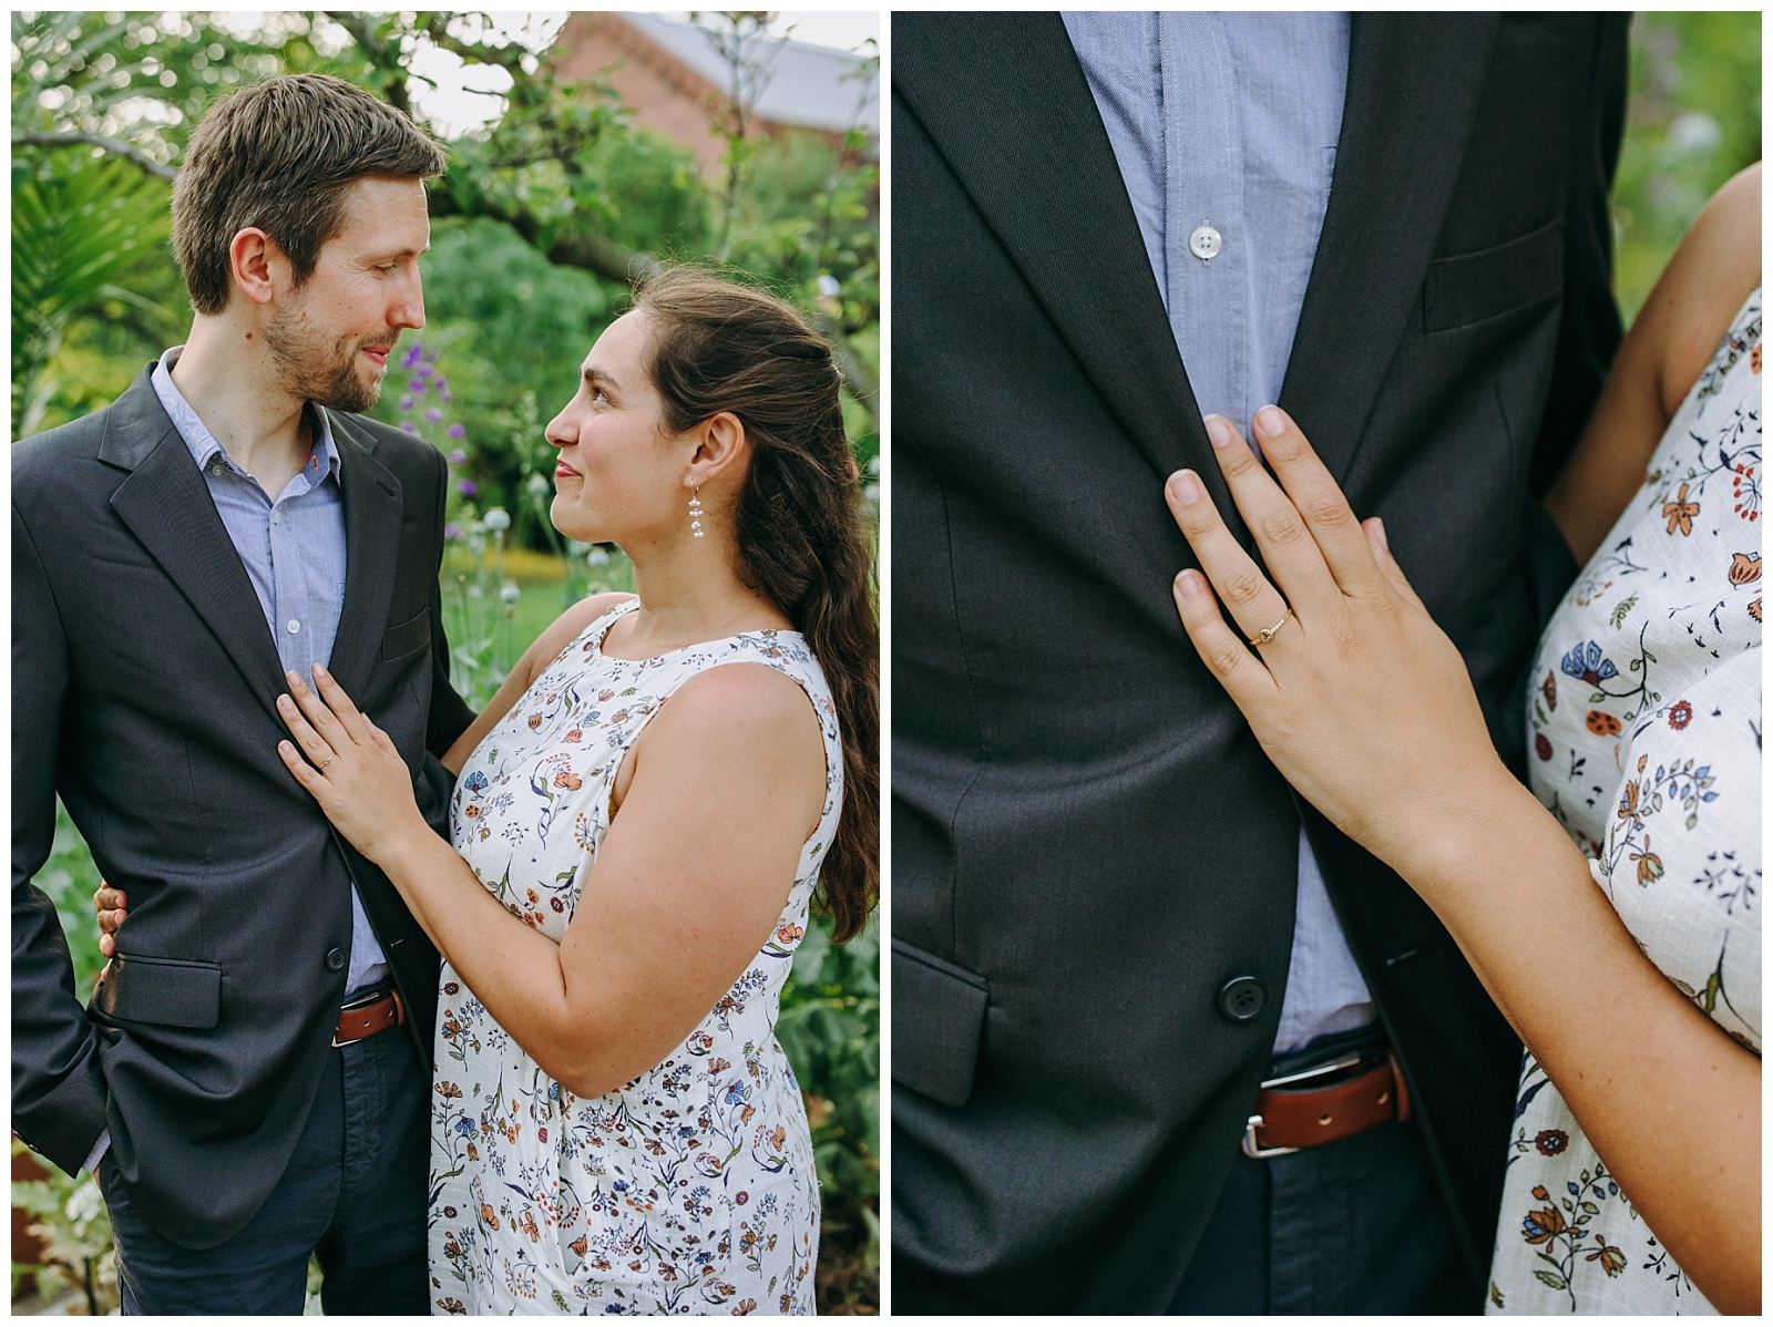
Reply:
[[1351, 1054], [1264, 1083], [1243, 1127], [1243, 1155], [1280, 1157], [1408, 1118], [1410, 1088], [1397, 1056]]

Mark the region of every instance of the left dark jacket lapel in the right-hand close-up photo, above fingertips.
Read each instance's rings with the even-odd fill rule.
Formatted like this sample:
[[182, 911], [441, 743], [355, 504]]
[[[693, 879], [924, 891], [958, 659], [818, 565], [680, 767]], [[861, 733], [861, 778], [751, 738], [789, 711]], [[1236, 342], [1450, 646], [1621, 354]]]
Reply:
[[895, 43], [917, 43], [915, 60], [895, 62], [899, 96], [1133, 445], [1158, 475], [1190, 464], [1223, 496], [1121, 167], [1064, 21], [1057, 12], [902, 12], [894, 27]]

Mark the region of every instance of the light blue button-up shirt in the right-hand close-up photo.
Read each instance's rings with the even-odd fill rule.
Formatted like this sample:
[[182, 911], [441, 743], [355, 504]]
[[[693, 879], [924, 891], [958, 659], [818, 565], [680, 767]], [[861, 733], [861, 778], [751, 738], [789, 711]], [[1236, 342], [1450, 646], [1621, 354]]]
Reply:
[[[1066, 12], [1202, 415], [1280, 397], [1330, 204], [1347, 14]], [[1300, 831], [1275, 1051], [1376, 1017]]]

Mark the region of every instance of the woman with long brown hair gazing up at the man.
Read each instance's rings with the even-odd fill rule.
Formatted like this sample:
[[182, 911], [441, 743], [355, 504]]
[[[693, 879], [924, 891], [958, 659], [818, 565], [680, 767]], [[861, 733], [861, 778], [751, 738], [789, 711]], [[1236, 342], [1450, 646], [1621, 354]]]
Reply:
[[564, 613], [449, 751], [456, 852], [337, 684], [289, 677], [285, 764], [445, 957], [441, 1311], [814, 1309], [817, 1175], [773, 1026], [816, 882], [855, 934], [878, 842], [837, 388], [789, 307], [706, 276], [654, 278], [603, 333], [548, 425], [551, 516], [621, 544], [638, 597]]

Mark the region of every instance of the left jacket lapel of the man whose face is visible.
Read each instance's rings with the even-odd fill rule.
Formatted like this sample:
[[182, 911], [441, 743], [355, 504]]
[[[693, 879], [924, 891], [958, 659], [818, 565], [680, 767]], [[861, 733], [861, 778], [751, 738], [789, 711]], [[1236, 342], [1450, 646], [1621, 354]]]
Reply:
[[112, 510], [160, 563], [273, 716], [284, 666], [264, 609], [190, 448], [144, 369], [105, 420], [99, 459], [131, 471]]

